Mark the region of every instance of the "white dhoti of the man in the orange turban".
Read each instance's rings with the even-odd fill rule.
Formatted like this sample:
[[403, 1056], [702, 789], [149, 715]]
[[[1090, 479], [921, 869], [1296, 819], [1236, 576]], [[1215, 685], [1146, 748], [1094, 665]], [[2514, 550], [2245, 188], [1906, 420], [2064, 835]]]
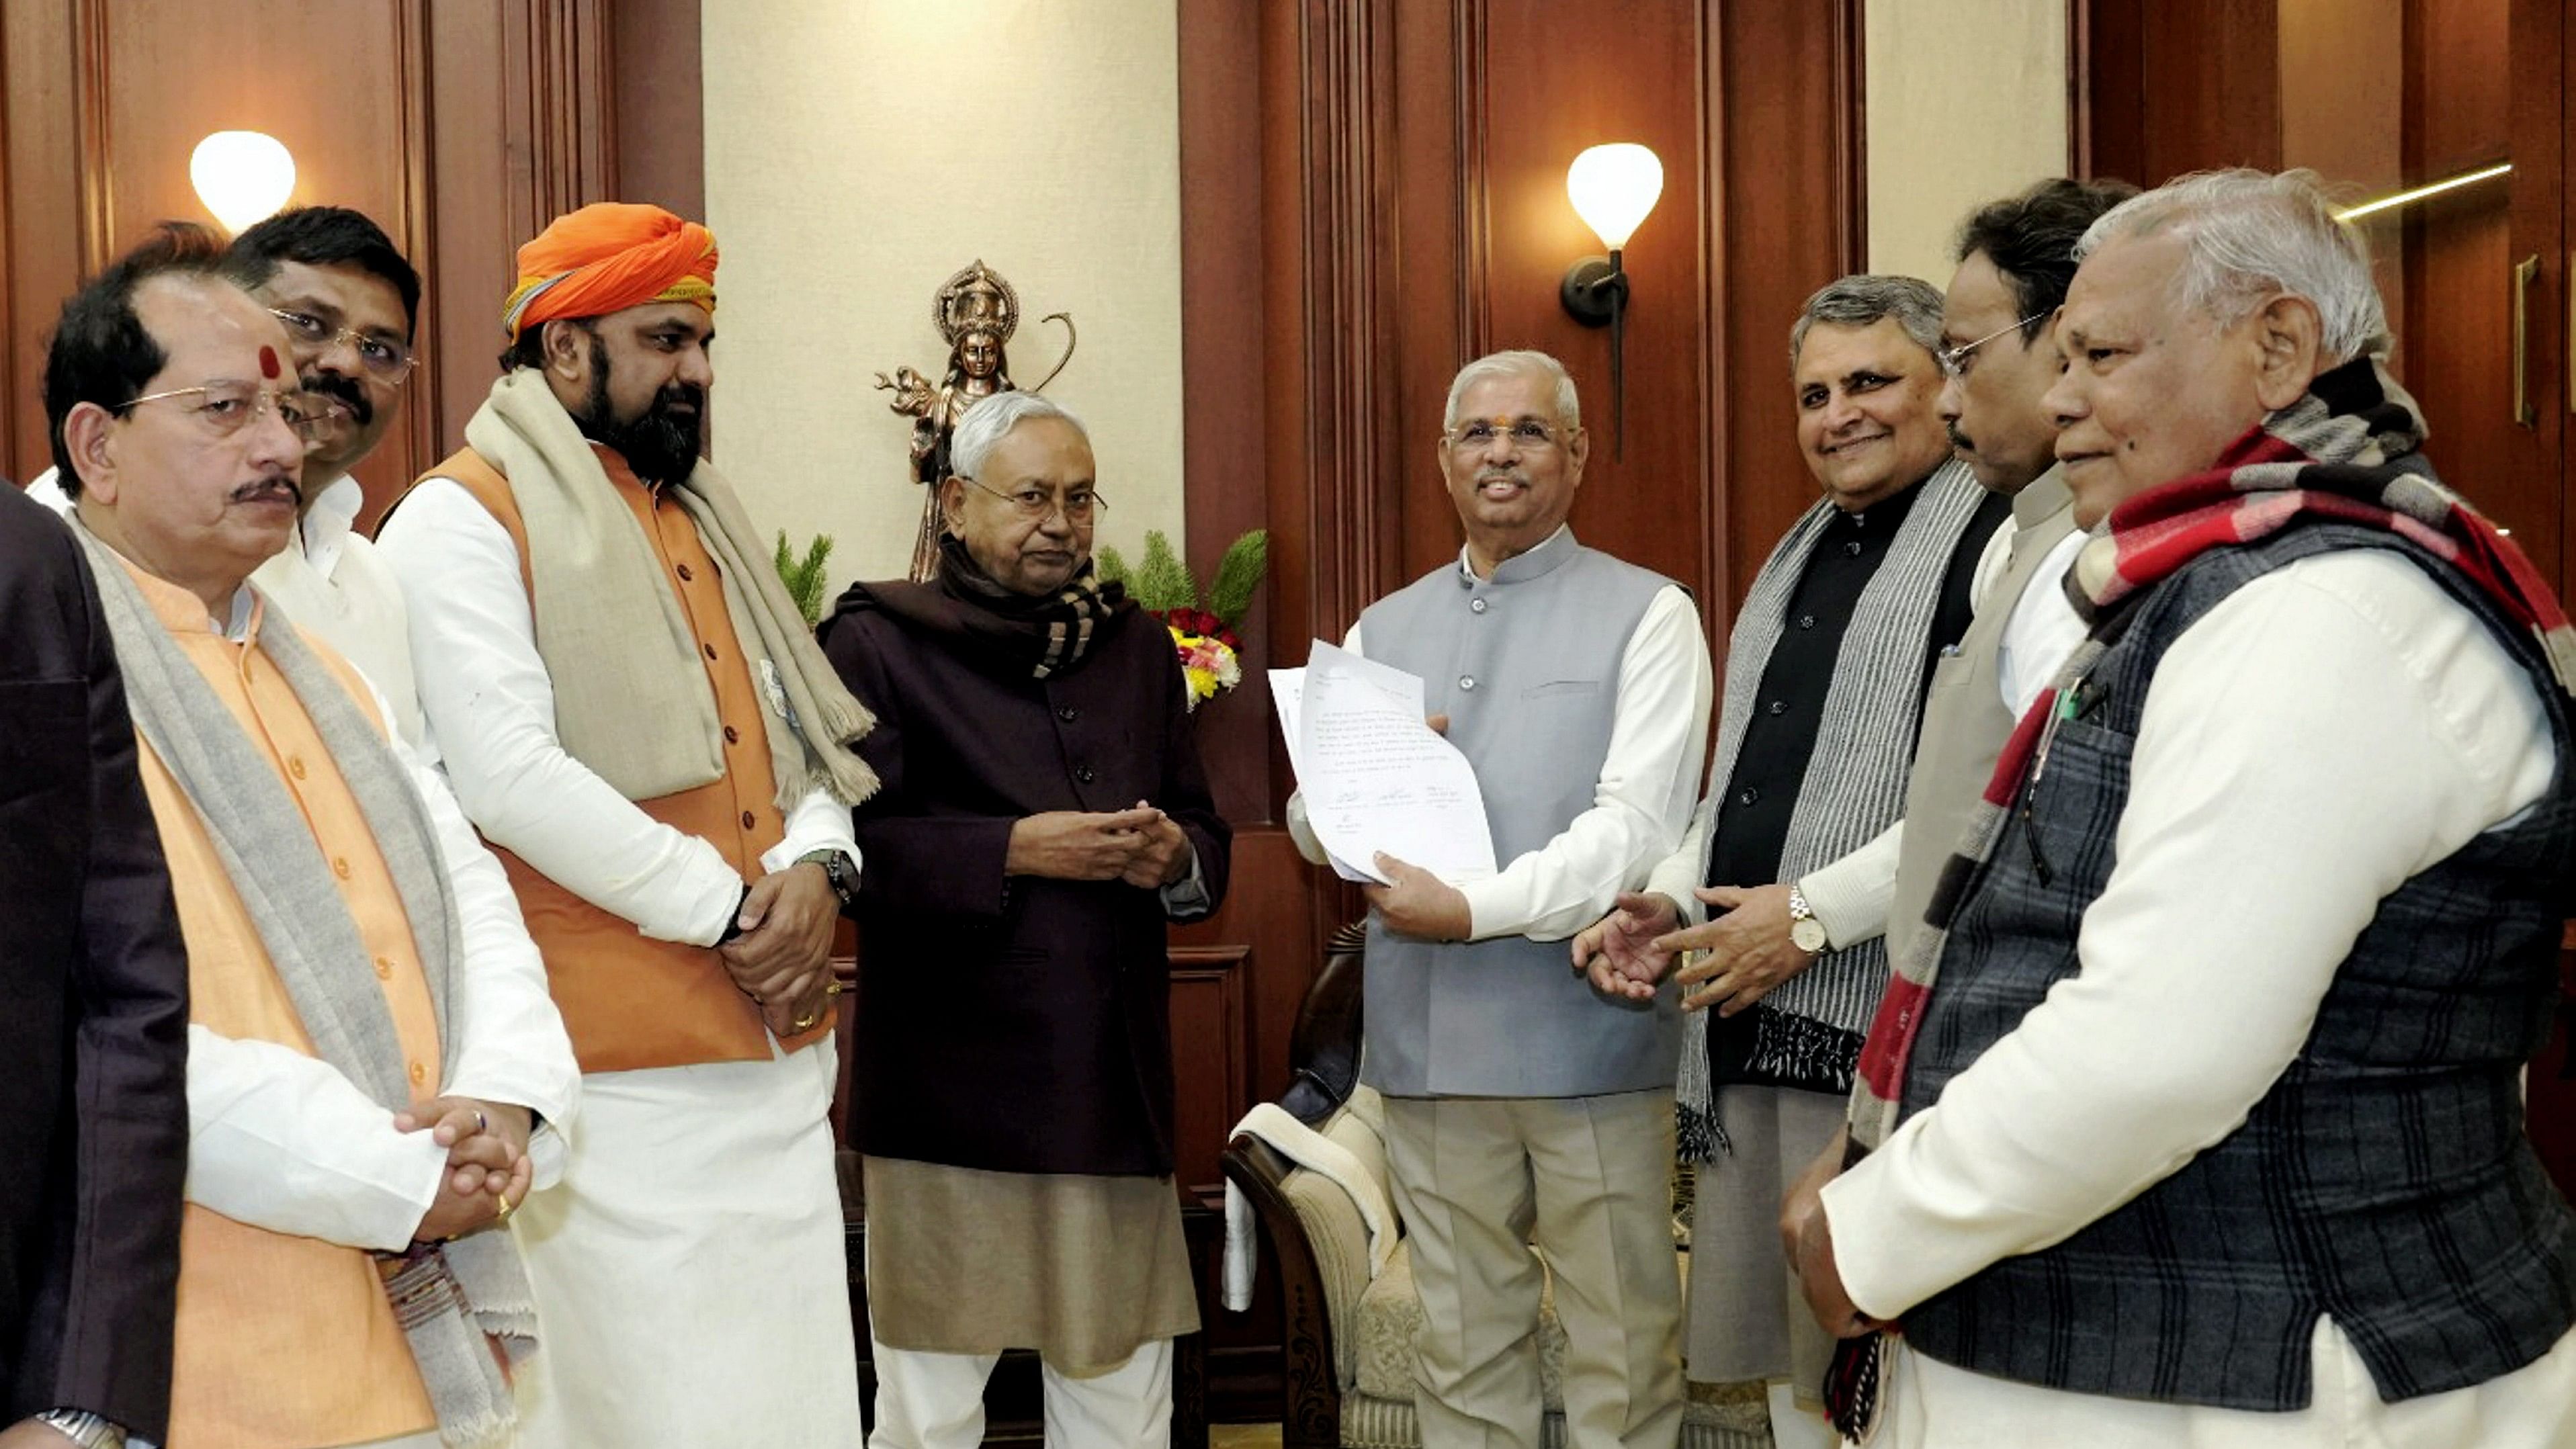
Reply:
[[837, 1066], [827, 1037], [582, 1078], [564, 1181], [515, 1220], [541, 1343], [526, 1449], [860, 1441]]

